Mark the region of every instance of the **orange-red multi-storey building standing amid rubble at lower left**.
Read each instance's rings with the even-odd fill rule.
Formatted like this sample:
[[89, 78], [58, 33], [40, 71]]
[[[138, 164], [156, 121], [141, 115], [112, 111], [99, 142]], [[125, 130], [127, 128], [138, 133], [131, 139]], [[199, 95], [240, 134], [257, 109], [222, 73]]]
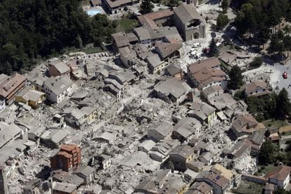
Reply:
[[51, 157], [51, 169], [77, 169], [82, 162], [81, 149], [77, 145], [67, 144], [60, 147], [60, 151]]

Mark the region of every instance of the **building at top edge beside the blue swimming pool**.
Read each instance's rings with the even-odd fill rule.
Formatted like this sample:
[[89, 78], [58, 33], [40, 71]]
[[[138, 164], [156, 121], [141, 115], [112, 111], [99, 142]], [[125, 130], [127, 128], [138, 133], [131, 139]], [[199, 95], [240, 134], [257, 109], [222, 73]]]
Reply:
[[139, 0], [102, 0], [102, 7], [110, 14], [123, 11], [127, 6], [138, 4]]

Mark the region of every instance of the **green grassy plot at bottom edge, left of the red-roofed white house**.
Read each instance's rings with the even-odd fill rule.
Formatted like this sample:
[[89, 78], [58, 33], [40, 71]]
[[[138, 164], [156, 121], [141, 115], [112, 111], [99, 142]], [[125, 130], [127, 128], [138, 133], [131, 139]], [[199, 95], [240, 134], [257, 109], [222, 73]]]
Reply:
[[236, 189], [233, 189], [233, 193], [241, 193], [241, 194], [259, 194], [262, 192], [264, 186], [258, 183], [252, 183], [249, 181], [241, 181], [240, 186]]

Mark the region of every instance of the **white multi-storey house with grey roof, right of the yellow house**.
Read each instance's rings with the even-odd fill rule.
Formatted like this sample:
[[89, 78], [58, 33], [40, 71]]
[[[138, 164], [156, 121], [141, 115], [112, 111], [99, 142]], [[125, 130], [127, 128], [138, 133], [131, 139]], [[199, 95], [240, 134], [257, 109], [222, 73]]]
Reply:
[[68, 77], [50, 77], [44, 82], [44, 92], [46, 93], [46, 99], [53, 103], [60, 103], [72, 95], [72, 80]]

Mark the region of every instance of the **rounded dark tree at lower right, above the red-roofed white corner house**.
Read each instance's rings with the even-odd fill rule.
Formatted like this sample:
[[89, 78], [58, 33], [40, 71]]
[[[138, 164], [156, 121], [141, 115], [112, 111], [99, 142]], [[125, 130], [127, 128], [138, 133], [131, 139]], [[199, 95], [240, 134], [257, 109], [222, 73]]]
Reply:
[[274, 159], [275, 148], [271, 141], [267, 140], [259, 149], [259, 164], [271, 164]]

